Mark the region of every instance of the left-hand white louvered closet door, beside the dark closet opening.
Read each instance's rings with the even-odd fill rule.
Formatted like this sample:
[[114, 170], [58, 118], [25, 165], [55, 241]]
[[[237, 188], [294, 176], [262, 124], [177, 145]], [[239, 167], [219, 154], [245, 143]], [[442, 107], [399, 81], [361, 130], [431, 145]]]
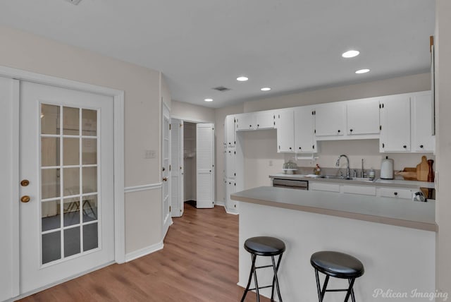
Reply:
[[183, 215], [183, 121], [171, 119], [171, 215]]

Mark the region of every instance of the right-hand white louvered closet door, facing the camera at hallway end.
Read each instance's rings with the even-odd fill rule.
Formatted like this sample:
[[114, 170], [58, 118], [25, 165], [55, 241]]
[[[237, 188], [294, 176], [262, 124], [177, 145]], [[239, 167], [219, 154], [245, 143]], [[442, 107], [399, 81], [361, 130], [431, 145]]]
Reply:
[[214, 207], [214, 124], [196, 125], [197, 207]]

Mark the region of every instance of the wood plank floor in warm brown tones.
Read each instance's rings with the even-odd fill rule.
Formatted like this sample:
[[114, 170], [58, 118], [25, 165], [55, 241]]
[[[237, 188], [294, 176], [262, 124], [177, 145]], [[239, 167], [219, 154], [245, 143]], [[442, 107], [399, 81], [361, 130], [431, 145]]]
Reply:
[[[110, 265], [20, 301], [240, 301], [238, 217], [185, 204], [156, 253]], [[256, 301], [249, 292], [246, 301]], [[261, 297], [261, 302], [269, 301]]]

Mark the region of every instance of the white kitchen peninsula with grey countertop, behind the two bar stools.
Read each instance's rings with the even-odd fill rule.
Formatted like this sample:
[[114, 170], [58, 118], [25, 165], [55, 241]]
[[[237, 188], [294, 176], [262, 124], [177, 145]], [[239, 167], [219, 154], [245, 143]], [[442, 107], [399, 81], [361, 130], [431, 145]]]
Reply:
[[[373, 296], [377, 289], [435, 290], [433, 201], [274, 187], [252, 188], [231, 198], [240, 201], [240, 286], [245, 286], [250, 267], [249, 254], [242, 248], [246, 238], [275, 236], [287, 246], [279, 271], [284, 301], [316, 301], [309, 258], [319, 250], [349, 253], [364, 263], [365, 274], [354, 287], [359, 301], [381, 301], [381, 296]], [[271, 272], [261, 270], [259, 283], [266, 282], [271, 283]], [[330, 280], [330, 288], [343, 287], [341, 282], [345, 281]], [[328, 301], [342, 298], [334, 294]]]

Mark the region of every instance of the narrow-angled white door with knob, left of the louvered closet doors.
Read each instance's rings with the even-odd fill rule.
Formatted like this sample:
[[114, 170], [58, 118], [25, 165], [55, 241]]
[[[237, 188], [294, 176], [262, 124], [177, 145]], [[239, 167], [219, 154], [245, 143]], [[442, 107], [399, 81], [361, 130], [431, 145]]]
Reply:
[[163, 237], [166, 236], [171, 219], [171, 119], [169, 110], [163, 104], [163, 133], [162, 133], [161, 162], [163, 163]]

